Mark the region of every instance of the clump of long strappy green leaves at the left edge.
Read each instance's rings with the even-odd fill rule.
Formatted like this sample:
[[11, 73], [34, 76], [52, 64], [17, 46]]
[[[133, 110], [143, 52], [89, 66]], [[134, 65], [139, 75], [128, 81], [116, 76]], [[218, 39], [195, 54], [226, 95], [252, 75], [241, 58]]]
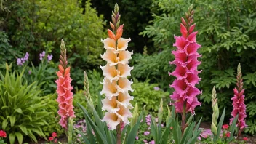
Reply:
[[29, 84], [24, 81], [23, 73], [9, 69], [6, 64], [5, 76], [0, 73], [0, 126], [9, 135], [9, 142], [23, 143], [23, 137], [28, 136], [37, 142], [36, 136], [45, 137], [41, 127], [47, 124], [49, 112], [45, 110], [48, 97], [39, 97], [41, 90], [36, 82]]

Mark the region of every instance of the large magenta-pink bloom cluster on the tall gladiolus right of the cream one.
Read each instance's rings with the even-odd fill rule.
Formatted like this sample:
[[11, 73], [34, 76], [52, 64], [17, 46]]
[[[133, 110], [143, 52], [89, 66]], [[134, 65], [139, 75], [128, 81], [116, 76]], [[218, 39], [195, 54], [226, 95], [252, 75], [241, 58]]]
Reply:
[[173, 46], [177, 47], [177, 50], [172, 51], [175, 55], [175, 60], [169, 62], [170, 64], [176, 65], [175, 71], [169, 73], [169, 76], [175, 76], [176, 79], [173, 81], [170, 87], [175, 89], [172, 95], [170, 95], [172, 100], [175, 100], [175, 108], [178, 113], [183, 112], [183, 105], [186, 102], [186, 112], [191, 111], [194, 113], [194, 109], [197, 105], [201, 105], [198, 101], [196, 95], [201, 94], [201, 91], [195, 87], [199, 84], [198, 74], [201, 71], [197, 71], [197, 66], [201, 63], [197, 60], [201, 57], [197, 52], [197, 49], [201, 45], [196, 43], [196, 32], [193, 32], [196, 24], [193, 24], [185, 28], [186, 23], [180, 23], [180, 32], [182, 36], [175, 36], [175, 44]]

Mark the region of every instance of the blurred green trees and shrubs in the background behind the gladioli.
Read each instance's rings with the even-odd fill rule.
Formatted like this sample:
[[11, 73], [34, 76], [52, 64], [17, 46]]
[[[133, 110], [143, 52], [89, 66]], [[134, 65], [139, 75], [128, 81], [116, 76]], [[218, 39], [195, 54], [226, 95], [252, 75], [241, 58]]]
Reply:
[[[175, 65], [169, 65], [169, 61], [174, 60], [171, 54], [175, 50], [174, 35], [181, 35], [180, 17], [185, 17], [193, 4], [194, 23], [199, 31], [196, 40], [202, 46], [198, 87], [203, 93], [198, 96], [202, 105], [196, 108], [196, 119], [203, 117], [203, 121], [211, 122], [211, 93], [215, 86], [220, 111], [226, 106], [225, 123], [228, 123], [233, 108], [231, 97], [236, 87], [236, 68], [241, 63], [248, 115], [245, 132], [255, 134], [255, 0], [0, 0], [1, 73], [4, 75], [7, 71], [5, 63], [12, 63], [10, 71], [24, 71], [24, 81], [37, 82], [41, 89], [39, 97], [53, 95], [51, 100], [55, 103], [55, 71], [60, 41], [64, 39], [75, 88], [74, 103], [84, 100], [84, 71], [89, 77], [91, 95], [97, 101], [103, 80], [100, 65], [105, 65], [100, 58], [105, 52], [100, 39], [107, 37], [115, 3], [119, 4], [121, 23], [124, 23], [123, 37], [132, 40], [128, 49], [134, 52], [129, 62], [134, 66], [129, 78], [134, 82], [133, 105], [138, 103], [140, 108], [147, 105], [148, 112], [156, 113], [161, 98], [165, 105], [170, 103], [173, 89], [169, 84], [175, 78], [169, 76], [168, 71], [175, 69]], [[45, 56], [40, 60], [43, 51]], [[17, 65], [17, 59], [26, 52], [28, 61]], [[51, 60], [47, 55], [52, 55]], [[49, 111], [57, 116], [57, 104], [53, 105], [56, 107]], [[76, 113], [76, 119], [81, 119], [81, 111], [76, 109]], [[47, 121], [51, 121], [49, 119]], [[56, 124], [49, 125], [44, 127], [46, 134], [56, 129], [61, 131]]]

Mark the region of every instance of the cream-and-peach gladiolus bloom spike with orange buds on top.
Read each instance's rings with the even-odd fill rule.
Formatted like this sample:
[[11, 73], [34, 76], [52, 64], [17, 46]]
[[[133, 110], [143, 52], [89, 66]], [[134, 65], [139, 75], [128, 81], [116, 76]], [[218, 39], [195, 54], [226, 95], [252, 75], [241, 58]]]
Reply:
[[100, 95], [105, 95], [105, 99], [102, 100], [102, 110], [107, 111], [102, 121], [105, 121], [111, 130], [116, 129], [119, 124], [120, 127], [129, 124], [128, 119], [132, 117], [129, 111], [133, 108], [129, 103], [133, 100], [129, 95], [129, 91], [133, 92], [132, 81], [129, 81], [127, 76], [131, 75], [130, 72], [133, 69], [128, 65], [133, 52], [127, 50], [130, 39], [121, 38], [123, 26], [111, 23], [111, 28], [117, 28], [116, 35], [108, 30], [109, 38], [101, 40], [106, 49], [101, 57], [107, 62], [106, 65], [100, 66], [105, 76], [101, 83], [103, 90], [100, 92]]

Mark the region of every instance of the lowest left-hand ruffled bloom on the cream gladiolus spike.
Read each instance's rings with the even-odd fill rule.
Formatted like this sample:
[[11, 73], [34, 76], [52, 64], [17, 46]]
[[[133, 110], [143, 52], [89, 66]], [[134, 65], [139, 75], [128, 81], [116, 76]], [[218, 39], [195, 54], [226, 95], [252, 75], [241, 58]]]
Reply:
[[115, 113], [106, 112], [102, 121], [108, 124], [109, 129], [114, 130], [120, 124], [121, 119]]

